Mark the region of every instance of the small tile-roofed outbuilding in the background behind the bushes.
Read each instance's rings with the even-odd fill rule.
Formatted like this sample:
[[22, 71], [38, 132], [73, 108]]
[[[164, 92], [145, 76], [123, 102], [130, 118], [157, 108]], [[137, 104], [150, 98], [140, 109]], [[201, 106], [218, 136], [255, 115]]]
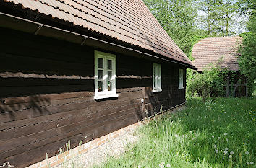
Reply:
[[[211, 66], [229, 71], [226, 78], [226, 97], [247, 96], [247, 81], [239, 73], [239, 45], [242, 37], [209, 37], [200, 40], [192, 49], [193, 61], [198, 72]], [[240, 79], [240, 80], [239, 80]]]

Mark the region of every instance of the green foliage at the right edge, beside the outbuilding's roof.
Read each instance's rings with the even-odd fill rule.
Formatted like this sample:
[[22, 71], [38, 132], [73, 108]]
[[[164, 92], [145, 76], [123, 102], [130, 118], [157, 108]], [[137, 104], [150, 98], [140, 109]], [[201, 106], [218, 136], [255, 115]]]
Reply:
[[256, 1], [250, 4], [250, 16], [247, 22], [250, 32], [244, 33], [242, 46], [239, 48], [241, 53], [239, 59], [240, 71], [247, 76], [249, 84], [249, 94], [253, 92], [253, 82], [256, 79]]

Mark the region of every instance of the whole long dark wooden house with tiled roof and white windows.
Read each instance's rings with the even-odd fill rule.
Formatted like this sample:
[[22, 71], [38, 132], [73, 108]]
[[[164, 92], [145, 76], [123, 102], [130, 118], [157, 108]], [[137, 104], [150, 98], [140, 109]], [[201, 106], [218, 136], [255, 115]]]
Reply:
[[0, 165], [184, 105], [195, 69], [142, 0], [0, 0], [0, 37]]

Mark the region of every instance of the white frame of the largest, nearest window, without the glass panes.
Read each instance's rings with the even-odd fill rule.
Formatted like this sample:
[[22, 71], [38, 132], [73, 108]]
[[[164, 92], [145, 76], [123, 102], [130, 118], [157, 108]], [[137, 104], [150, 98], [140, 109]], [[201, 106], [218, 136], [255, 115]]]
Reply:
[[[110, 97], [118, 97], [116, 94], [116, 55], [111, 53], [103, 53], [101, 51], [95, 50], [94, 53], [94, 86], [95, 86], [95, 96], [94, 99], [104, 99]], [[98, 92], [98, 58], [103, 58], [103, 91]], [[108, 65], [107, 61], [112, 60], [112, 78], [111, 84], [113, 85], [112, 90], [108, 91]]]

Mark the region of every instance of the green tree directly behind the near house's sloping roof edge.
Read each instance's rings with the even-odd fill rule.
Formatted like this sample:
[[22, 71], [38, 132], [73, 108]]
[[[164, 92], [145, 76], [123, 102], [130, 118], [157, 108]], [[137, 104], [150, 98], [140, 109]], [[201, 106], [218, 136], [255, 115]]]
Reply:
[[189, 56], [197, 17], [196, 0], [144, 0], [172, 40]]

